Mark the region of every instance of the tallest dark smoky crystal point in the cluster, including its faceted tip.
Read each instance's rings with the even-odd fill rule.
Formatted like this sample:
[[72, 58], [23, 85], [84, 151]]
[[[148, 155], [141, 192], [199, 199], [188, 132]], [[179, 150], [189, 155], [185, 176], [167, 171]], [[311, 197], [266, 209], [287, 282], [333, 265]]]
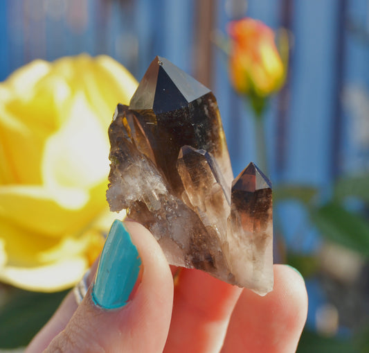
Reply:
[[165, 58], [157, 56], [129, 103], [150, 141], [157, 166], [172, 188], [183, 188], [176, 169], [184, 145], [204, 149], [233, 179], [217, 101], [213, 93]]

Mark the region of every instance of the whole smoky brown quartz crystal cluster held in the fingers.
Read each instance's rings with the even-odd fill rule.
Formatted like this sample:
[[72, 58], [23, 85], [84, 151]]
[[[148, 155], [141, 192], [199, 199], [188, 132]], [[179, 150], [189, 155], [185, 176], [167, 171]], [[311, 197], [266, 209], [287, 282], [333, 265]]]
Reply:
[[127, 209], [170, 264], [264, 295], [273, 289], [271, 184], [233, 174], [212, 92], [156, 57], [109, 127], [111, 211]]

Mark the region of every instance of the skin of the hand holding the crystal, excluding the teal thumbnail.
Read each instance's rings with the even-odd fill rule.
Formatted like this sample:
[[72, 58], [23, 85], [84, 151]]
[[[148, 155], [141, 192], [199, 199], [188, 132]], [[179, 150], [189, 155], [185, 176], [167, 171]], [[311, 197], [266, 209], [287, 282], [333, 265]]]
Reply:
[[[143, 261], [141, 282], [129, 302], [108, 311], [66, 296], [26, 353], [289, 353], [307, 317], [303, 278], [274, 265], [274, 289], [260, 297], [199, 270], [170, 268], [148, 230], [126, 222]], [[93, 282], [97, 263], [91, 268]], [[173, 275], [177, 273], [174, 281]]]

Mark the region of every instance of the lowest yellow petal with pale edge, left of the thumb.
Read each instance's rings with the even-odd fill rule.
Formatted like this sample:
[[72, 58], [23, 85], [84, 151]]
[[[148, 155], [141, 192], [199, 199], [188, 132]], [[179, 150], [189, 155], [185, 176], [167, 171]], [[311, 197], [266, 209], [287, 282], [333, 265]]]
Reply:
[[[34, 291], [73, 286], [100, 252], [103, 239], [91, 230], [80, 236], [43, 237], [3, 220], [0, 234], [0, 280]], [[91, 246], [95, 246], [93, 259]]]

